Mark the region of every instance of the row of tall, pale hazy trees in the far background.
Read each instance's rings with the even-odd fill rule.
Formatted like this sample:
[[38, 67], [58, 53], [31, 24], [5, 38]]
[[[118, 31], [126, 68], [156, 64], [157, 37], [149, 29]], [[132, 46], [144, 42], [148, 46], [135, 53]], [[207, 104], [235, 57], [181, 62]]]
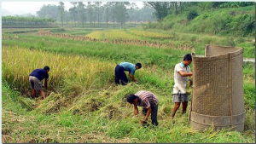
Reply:
[[72, 7], [65, 9], [65, 3], [44, 5], [37, 14], [40, 18], [51, 18], [61, 26], [124, 26], [125, 22], [138, 23], [154, 21], [154, 9], [144, 6], [139, 9], [129, 2], [71, 2]]

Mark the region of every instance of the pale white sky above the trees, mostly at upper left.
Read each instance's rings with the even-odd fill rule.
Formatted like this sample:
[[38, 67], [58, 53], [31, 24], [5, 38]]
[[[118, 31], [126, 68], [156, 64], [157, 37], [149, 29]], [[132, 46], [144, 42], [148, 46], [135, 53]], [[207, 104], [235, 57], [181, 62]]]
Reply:
[[[79, 0], [78, 0], [79, 1]], [[59, 2], [2, 2], [2, 15], [6, 14], [36, 14], [37, 11], [45, 4], [59, 5]], [[65, 8], [72, 7], [70, 2], [64, 2]], [[143, 7], [143, 2], [136, 2], [139, 8]]]

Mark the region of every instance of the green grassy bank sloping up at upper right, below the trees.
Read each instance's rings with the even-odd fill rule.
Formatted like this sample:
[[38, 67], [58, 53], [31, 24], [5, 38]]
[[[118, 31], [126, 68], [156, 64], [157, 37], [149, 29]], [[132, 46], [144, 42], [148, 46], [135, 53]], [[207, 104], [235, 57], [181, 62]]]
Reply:
[[[191, 12], [195, 13], [195, 17], [188, 19]], [[149, 23], [144, 27], [218, 36], [253, 37], [254, 23], [254, 6], [225, 9], [201, 9], [194, 6], [183, 14], [169, 14], [159, 23]]]

